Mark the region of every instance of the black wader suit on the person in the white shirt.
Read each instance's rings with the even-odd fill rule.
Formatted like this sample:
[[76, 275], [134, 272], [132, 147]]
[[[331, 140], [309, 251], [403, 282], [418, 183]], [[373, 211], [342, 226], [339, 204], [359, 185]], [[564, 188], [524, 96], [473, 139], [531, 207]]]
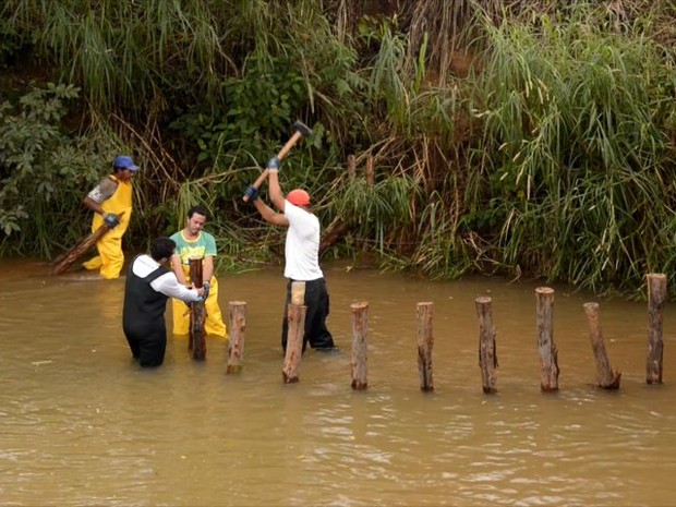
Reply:
[[167, 348], [165, 310], [168, 297], [153, 289], [150, 282], [169, 269], [159, 266], [141, 278], [133, 273], [134, 262], [126, 271], [122, 327], [134, 359], [144, 367], [159, 366], [165, 361]]

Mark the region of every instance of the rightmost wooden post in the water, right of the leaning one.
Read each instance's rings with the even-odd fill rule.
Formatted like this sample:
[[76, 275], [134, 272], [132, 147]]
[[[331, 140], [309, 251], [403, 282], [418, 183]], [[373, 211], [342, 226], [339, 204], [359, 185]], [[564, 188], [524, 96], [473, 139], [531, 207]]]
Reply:
[[662, 324], [664, 322], [664, 303], [666, 301], [666, 275], [651, 273], [648, 275], [648, 361], [645, 362], [645, 382], [662, 384]]

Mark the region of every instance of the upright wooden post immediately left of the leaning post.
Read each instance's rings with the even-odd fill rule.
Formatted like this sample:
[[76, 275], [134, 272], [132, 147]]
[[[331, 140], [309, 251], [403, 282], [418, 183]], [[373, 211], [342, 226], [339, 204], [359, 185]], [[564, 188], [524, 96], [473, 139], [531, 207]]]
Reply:
[[558, 390], [558, 350], [554, 343], [554, 289], [539, 287], [536, 294], [540, 389]]

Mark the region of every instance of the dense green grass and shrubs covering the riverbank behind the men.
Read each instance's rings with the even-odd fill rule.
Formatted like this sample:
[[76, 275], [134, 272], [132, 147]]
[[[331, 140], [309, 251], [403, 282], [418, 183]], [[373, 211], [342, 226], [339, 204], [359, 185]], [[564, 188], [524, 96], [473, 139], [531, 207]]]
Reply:
[[202, 203], [220, 269], [274, 262], [283, 231], [241, 195], [301, 119], [282, 184], [314, 196], [325, 256], [631, 295], [671, 271], [673, 2], [376, 3], [5, 0], [0, 255], [74, 244], [129, 152], [130, 249]]

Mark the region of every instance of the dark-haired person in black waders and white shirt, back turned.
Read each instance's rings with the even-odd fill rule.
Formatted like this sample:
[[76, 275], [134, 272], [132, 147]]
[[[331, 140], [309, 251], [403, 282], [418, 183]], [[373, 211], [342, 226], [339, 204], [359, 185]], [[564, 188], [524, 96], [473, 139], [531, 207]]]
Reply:
[[174, 253], [173, 240], [156, 238], [150, 255], [136, 256], [126, 271], [122, 327], [132, 355], [143, 367], [159, 366], [165, 361], [167, 300], [178, 298], [190, 303], [205, 298], [203, 288], [186, 288], [162, 266]]

